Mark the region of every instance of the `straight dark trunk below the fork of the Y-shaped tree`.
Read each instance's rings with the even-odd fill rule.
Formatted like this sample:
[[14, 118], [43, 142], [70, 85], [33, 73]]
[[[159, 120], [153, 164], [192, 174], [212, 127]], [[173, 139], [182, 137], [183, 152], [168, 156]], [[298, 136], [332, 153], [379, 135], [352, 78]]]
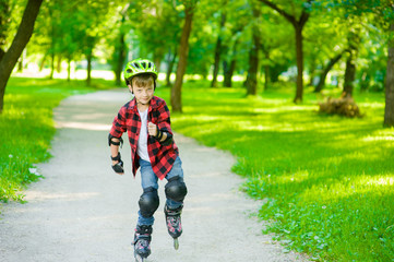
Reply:
[[302, 52], [302, 27], [295, 26], [296, 29], [296, 56], [297, 56], [297, 91], [294, 103], [301, 103], [303, 95], [303, 52]]

